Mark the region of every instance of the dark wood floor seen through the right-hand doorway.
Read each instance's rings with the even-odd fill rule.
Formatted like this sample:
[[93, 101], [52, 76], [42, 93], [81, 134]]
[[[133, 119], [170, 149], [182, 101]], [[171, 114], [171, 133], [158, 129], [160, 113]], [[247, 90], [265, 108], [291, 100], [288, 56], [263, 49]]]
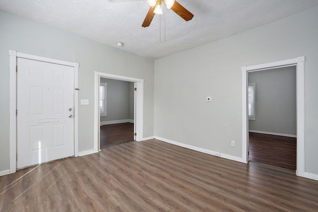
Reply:
[[296, 170], [297, 138], [250, 132], [249, 160]]

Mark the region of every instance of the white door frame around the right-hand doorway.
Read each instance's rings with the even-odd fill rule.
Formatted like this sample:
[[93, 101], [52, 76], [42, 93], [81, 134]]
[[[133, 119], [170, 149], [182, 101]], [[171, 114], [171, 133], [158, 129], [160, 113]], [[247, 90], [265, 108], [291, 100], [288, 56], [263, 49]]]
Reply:
[[247, 74], [288, 66], [296, 66], [297, 82], [297, 169], [296, 175], [305, 174], [305, 56], [265, 63], [254, 66], [244, 66], [242, 71], [242, 160], [248, 163], [248, 112], [247, 112]]

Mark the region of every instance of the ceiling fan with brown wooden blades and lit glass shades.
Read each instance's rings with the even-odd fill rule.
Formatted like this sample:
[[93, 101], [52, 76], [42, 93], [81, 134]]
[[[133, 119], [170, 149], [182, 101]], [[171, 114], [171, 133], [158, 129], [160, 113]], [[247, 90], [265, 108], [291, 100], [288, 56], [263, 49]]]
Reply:
[[155, 14], [162, 14], [162, 1], [165, 3], [168, 9], [171, 9], [175, 13], [177, 13], [180, 17], [182, 17], [185, 21], [191, 20], [193, 18], [193, 14], [189, 12], [186, 8], [184, 8], [180, 3], [176, 0], [148, 0], [150, 8], [146, 15], [146, 18], [142, 24], [143, 27], [147, 27], [150, 25], [153, 20]]

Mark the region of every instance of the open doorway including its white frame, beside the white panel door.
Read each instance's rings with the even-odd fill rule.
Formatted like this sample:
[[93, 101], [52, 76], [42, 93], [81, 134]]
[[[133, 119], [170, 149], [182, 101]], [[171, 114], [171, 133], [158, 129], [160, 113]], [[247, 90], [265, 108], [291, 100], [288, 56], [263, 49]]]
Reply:
[[[94, 73], [93, 151], [123, 142], [143, 140], [144, 80]], [[110, 140], [112, 143], [108, 142]]]

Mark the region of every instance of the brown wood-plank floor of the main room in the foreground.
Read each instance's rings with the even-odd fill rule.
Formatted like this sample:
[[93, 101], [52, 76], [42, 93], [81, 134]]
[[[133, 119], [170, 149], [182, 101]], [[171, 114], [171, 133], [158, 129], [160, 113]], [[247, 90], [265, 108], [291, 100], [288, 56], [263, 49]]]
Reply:
[[318, 181], [159, 140], [0, 177], [0, 211], [317, 212]]

